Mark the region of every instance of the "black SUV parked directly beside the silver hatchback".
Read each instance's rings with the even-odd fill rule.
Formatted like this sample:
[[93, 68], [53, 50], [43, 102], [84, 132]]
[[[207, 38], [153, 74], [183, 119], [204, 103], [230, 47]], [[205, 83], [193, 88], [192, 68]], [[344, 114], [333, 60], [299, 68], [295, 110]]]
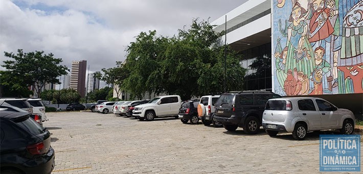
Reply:
[[222, 94], [215, 103], [215, 119], [226, 130], [242, 127], [246, 134], [257, 134], [268, 99], [281, 96], [268, 91], [239, 91]]

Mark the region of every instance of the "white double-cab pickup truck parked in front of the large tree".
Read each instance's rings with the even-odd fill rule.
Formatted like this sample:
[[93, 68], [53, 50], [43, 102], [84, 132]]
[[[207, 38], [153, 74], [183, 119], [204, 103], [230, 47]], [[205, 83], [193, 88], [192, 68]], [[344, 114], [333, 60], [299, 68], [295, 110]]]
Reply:
[[132, 116], [139, 120], [151, 121], [157, 117], [176, 117], [182, 100], [178, 95], [155, 97], [148, 103], [135, 106]]

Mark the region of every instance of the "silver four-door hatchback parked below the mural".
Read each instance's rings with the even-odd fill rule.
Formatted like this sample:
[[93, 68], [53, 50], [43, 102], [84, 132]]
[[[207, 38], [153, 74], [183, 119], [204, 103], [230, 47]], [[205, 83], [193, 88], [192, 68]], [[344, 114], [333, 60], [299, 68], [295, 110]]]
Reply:
[[269, 136], [288, 132], [296, 140], [303, 140], [312, 130], [340, 129], [342, 134], [353, 134], [354, 125], [351, 111], [314, 97], [269, 99], [262, 119]]

